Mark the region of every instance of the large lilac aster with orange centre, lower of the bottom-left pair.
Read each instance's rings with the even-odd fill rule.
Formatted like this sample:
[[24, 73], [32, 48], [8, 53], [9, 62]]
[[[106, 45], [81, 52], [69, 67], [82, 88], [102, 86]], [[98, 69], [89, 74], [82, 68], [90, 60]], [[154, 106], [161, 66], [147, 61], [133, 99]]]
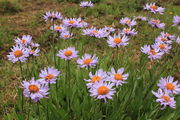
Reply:
[[22, 87], [24, 89], [24, 96], [31, 98], [34, 102], [38, 102], [42, 98], [47, 98], [47, 95], [49, 94], [48, 86], [41, 84], [39, 80], [35, 80], [34, 78], [32, 78], [29, 82], [23, 81]]

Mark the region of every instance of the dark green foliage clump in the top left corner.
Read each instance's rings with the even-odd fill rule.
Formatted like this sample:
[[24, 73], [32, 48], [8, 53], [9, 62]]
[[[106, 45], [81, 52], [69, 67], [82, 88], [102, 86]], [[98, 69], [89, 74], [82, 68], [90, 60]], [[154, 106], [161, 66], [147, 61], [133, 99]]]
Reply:
[[0, 1], [0, 14], [14, 14], [21, 10], [21, 7], [15, 3], [8, 0]]

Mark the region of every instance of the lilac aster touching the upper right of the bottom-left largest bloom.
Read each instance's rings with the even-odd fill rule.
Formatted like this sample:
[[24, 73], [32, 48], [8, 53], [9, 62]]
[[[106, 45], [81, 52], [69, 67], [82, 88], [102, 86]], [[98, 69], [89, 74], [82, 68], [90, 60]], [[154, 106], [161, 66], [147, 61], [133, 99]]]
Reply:
[[60, 71], [55, 69], [54, 67], [47, 67], [41, 70], [39, 77], [41, 78], [39, 81], [43, 84], [55, 84], [57, 77], [60, 75]]

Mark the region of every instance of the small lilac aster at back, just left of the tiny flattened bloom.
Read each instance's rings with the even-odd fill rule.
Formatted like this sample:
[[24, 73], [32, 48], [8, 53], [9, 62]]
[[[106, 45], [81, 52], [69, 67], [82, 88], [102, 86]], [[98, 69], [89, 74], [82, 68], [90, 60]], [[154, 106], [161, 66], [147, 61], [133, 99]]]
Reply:
[[136, 25], [135, 19], [131, 20], [131, 19], [128, 18], [128, 17], [122, 18], [122, 19], [120, 20], [120, 23], [121, 23], [122, 25], [127, 25], [127, 26], [129, 26], [129, 27], [132, 27], [132, 26]]

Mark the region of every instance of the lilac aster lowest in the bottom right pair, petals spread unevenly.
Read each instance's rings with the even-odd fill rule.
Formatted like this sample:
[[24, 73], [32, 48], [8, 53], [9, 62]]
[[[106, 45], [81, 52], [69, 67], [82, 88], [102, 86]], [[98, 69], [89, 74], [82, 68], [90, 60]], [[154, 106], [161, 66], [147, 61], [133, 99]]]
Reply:
[[176, 108], [176, 101], [174, 100], [174, 97], [171, 97], [166, 91], [159, 88], [157, 92], [152, 91], [152, 93], [157, 97], [156, 102], [163, 106], [162, 109], [166, 106]]

